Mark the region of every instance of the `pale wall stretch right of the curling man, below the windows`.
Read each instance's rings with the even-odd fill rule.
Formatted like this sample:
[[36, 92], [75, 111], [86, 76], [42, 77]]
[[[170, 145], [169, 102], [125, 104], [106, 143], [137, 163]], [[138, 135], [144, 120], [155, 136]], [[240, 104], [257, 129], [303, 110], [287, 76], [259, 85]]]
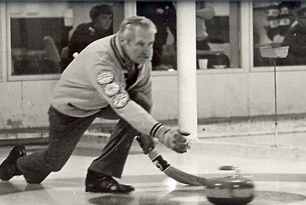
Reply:
[[[305, 78], [305, 71], [277, 72], [279, 114], [306, 113]], [[178, 118], [177, 77], [153, 77], [153, 85], [153, 115], [160, 120]], [[198, 118], [273, 115], [274, 74], [198, 72], [197, 99]]]

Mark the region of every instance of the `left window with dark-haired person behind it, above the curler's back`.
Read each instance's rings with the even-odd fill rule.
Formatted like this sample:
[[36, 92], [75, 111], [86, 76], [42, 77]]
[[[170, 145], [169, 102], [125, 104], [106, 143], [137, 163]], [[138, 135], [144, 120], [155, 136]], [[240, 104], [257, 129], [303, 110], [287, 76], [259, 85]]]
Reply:
[[123, 2], [14, 2], [7, 10], [12, 77], [60, 74], [73, 54], [123, 20]]

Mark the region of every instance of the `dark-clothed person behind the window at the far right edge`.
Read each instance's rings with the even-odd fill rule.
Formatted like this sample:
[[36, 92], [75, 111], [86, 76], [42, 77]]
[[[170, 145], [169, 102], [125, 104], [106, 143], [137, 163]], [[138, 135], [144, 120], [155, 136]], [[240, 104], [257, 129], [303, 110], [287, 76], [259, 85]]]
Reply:
[[295, 12], [297, 24], [285, 34], [281, 46], [289, 46], [288, 60], [291, 65], [306, 64], [306, 8]]

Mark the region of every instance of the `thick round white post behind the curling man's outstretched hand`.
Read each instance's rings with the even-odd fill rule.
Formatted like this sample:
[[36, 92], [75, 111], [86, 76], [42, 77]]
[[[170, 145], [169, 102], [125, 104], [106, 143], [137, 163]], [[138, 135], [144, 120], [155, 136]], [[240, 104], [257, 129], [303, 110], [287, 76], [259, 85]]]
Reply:
[[177, 72], [179, 82], [179, 128], [196, 140], [196, 7], [195, 1], [177, 1]]

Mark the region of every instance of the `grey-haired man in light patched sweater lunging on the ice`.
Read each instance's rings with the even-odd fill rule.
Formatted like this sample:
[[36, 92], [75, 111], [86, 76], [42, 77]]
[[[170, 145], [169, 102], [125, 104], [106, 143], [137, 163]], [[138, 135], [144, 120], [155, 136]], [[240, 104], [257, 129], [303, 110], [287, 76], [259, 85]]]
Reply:
[[131, 143], [140, 133], [149, 139], [157, 137], [176, 152], [186, 152], [188, 134], [163, 126], [149, 114], [155, 33], [151, 20], [134, 16], [123, 20], [118, 33], [81, 51], [55, 85], [49, 109], [49, 146], [28, 155], [24, 146], [13, 148], [0, 165], [1, 180], [23, 175], [29, 184], [40, 183], [51, 172], [60, 171], [95, 118], [119, 122], [101, 156], [88, 167], [86, 191], [134, 190], [113, 177], [121, 177]]

